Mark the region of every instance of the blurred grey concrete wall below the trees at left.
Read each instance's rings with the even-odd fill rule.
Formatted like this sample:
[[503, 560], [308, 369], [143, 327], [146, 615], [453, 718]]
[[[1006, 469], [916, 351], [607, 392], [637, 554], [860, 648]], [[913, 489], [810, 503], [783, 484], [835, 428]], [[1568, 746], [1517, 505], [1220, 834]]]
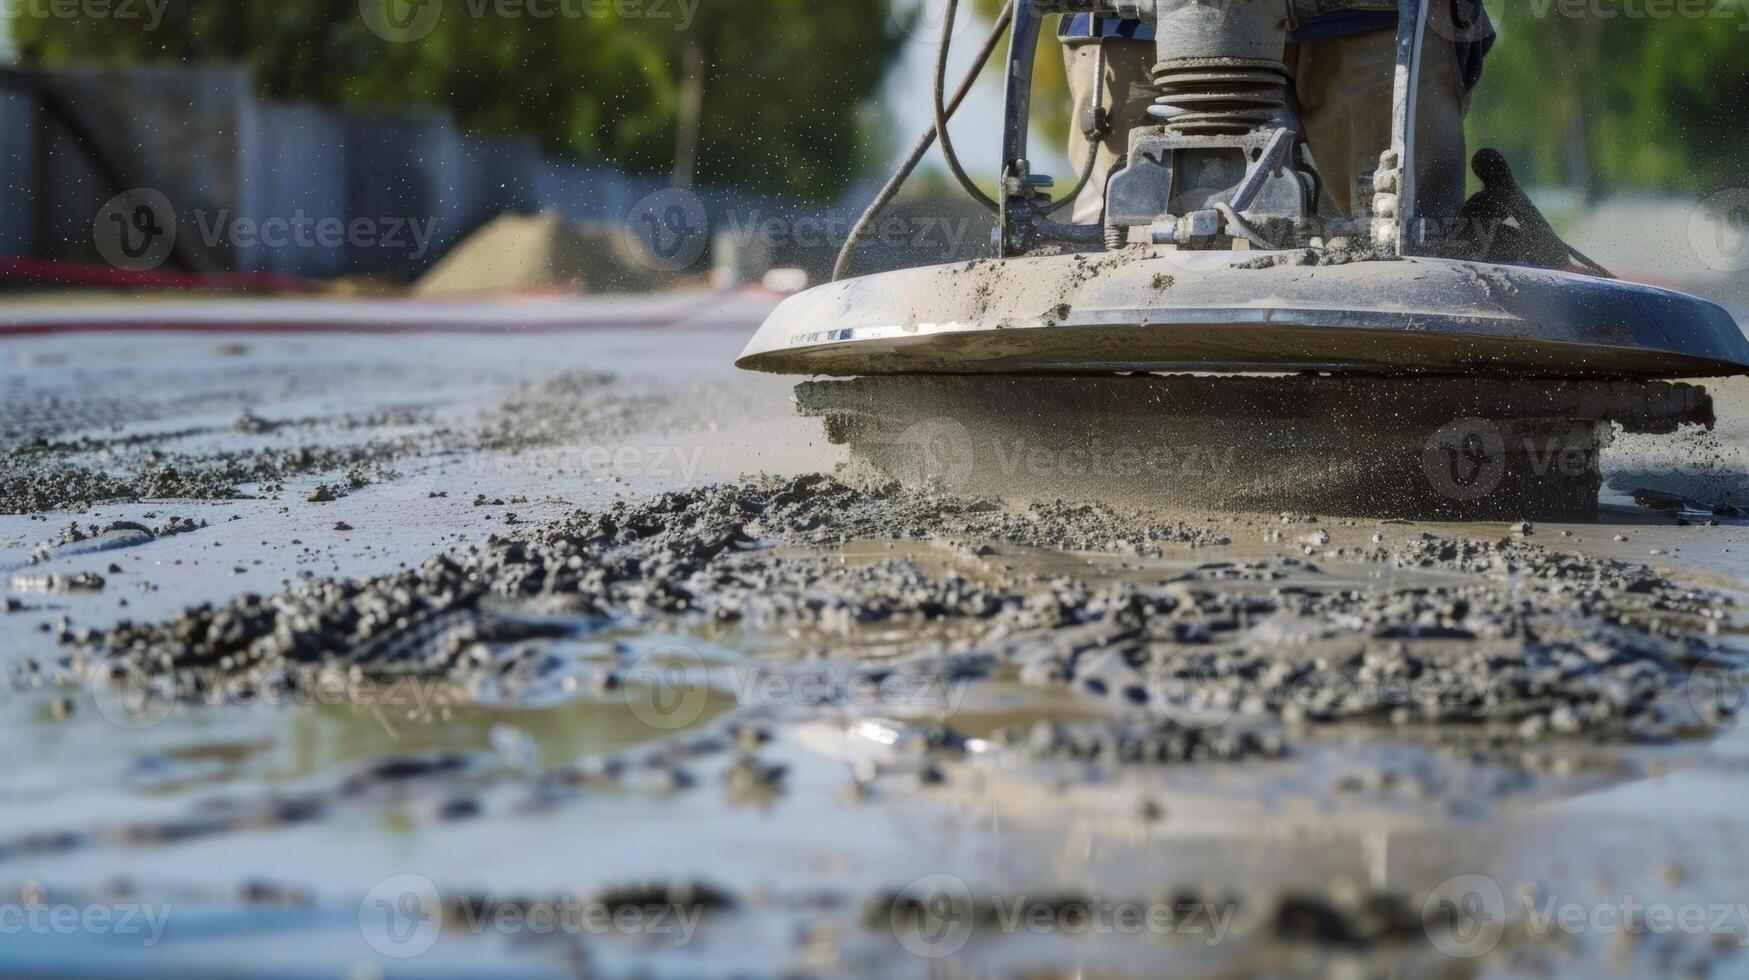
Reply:
[[[45, 89], [103, 145], [87, 147], [40, 112]], [[446, 112], [261, 102], [248, 74], [233, 68], [5, 70], [0, 140], [0, 254], [77, 262], [103, 261], [93, 224], [135, 187], [171, 200], [178, 261], [306, 278], [415, 276], [500, 214], [619, 224], [668, 187], [665, 177], [549, 158], [530, 138], [462, 135]], [[700, 189], [700, 198], [719, 228], [785, 214], [733, 191]], [[324, 234], [336, 226], [339, 242]]]

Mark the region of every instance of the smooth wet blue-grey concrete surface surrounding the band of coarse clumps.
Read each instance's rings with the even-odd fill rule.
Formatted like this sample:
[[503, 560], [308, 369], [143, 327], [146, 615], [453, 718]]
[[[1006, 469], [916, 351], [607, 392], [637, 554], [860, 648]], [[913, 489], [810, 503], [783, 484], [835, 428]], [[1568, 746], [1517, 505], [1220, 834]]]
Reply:
[[[829, 472], [845, 455], [817, 422], [792, 416], [789, 380], [729, 366], [768, 306], [749, 296], [687, 296], [612, 304], [14, 308], [0, 331], [30, 336], [0, 341], [9, 390], [0, 429], [9, 450], [44, 439], [59, 446], [44, 450], [58, 464], [110, 466], [124, 476], [168, 458], [220, 476], [269, 478], [236, 483], [236, 499], [142, 499], [0, 516], [0, 567], [17, 607], [0, 618], [0, 663], [16, 670], [63, 656], [56, 642], [63, 628], [168, 621], [194, 604], [276, 593], [304, 572], [381, 576], [616, 499], [652, 500], [756, 471]], [[124, 318], [185, 329], [107, 329]], [[68, 332], [49, 332], [61, 329]], [[1742, 418], [1725, 432], [1719, 452], [1730, 453], [1730, 469], [1744, 448]], [[1660, 453], [1674, 452], [1672, 439], [1655, 443], [1620, 446], [1625, 458], [1613, 466], [1634, 480], [1670, 471]], [[299, 458], [329, 458], [299, 457], [301, 448], [359, 450], [345, 458], [360, 480], [348, 469], [301, 466]], [[338, 499], [311, 500], [318, 485], [338, 490]], [[119, 550], [73, 544], [31, 560], [70, 522], [157, 527], [171, 516], [205, 527]], [[990, 556], [971, 541], [878, 536], [824, 553], [850, 567], [897, 556], [925, 576], [958, 569], [972, 581], [1009, 564], [1084, 579], [1093, 592], [1135, 581], [1191, 588], [1200, 576], [1217, 576], [1223, 562], [1254, 560], [1286, 569], [1286, 578], [1235, 584], [1233, 595], [1307, 590], [1385, 600], [1424, 588], [1476, 595], [1523, 588], [1529, 604], [1537, 588], [1562, 588], [1485, 570], [1403, 570], [1362, 556], [1369, 541], [1392, 548], [1424, 532], [1499, 541], [1511, 537], [1504, 527], [1296, 520], [1305, 527], [1287, 525], [1284, 534], [1275, 514], [1195, 518], [1230, 542], [1167, 546], [1158, 556], [1007, 546]], [[1319, 532], [1322, 542], [1307, 544]], [[1749, 656], [1742, 607], [1723, 606], [1749, 597], [1744, 522], [1679, 527], [1672, 516], [1628, 506], [1618, 492], [1604, 525], [1537, 527], [1530, 541], [1649, 562], [1676, 583], [1669, 588], [1718, 595], [1711, 642]], [[773, 556], [782, 560], [784, 553]], [[103, 576], [105, 588], [44, 592], [52, 576], [77, 572]], [[1576, 595], [1597, 590], [1572, 584]], [[932, 646], [929, 635], [888, 630], [859, 642], [920, 651]], [[972, 646], [1000, 642], [993, 635]], [[789, 766], [782, 793], [759, 803], [738, 803], [735, 784], [722, 782], [738, 763], [719, 777], [714, 758], [687, 763], [698, 782], [680, 788], [554, 782], [570, 766], [588, 772], [588, 760], [637, 766], [645, 752], [654, 758], [689, 732], [708, 730], [663, 732], [628, 695], [588, 688], [598, 665], [672, 644], [728, 672], [798, 658], [857, 663], [859, 649], [843, 637], [763, 635], [752, 626], [675, 634], [588, 625], [542, 648], [577, 665], [584, 681], [575, 693], [551, 704], [476, 698], [436, 714], [397, 714], [378, 704], [254, 704], [182, 707], [129, 724], [140, 718], [96, 686], [10, 690], [0, 700], [0, 724], [12, 737], [10, 774], [0, 786], [0, 905], [142, 906], [164, 915], [166, 928], [150, 943], [114, 928], [21, 928], [0, 943], [0, 970], [185, 976], [245, 970], [283, 976], [1691, 970], [1725, 976], [1749, 970], [1740, 957], [1749, 943], [1740, 905], [1749, 886], [1742, 845], [1749, 742], [1735, 723], [1663, 744], [1548, 738], [1509, 751], [1441, 744], [1432, 732], [1336, 728], [1296, 742], [1284, 760], [1175, 766], [1039, 765], [992, 749], [943, 761], [941, 784], [888, 775], [859, 802], [845, 788], [861, 766], [885, 760], [883, 766], [902, 768], [902, 752], [866, 724], [866, 714], [787, 705], [728, 716], [759, 719], [771, 737], [759, 760]], [[733, 690], [715, 696], [728, 705], [740, 700]], [[1004, 718], [1097, 714], [1079, 695], [1051, 695], [1048, 710], [1041, 696], [1013, 679], [979, 682], [948, 718], [983, 733]], [[757, 705], [740, 705], [747, 707]], [[369, 775], [385, 760], [441, 752], [469, 760], [463, 775], [402, 782]], [[1338, 789], [1376, 774], [1422, 789]], [[472, 816], [451, 810], [462, 796], [477, 805]], [[320, 817], [250, 816], [304, 798], [324, 802]], [[1160, 812], [1142, 814], [1139, 802]], [[1326, 922], [1313, 908], [1312, 924], [1293, 926], [1300, 920], [1268, 912], [1273, 900], [1265, 898], [1289, 889], [1340, 905], [1345, 894], [1401, 892], [1417, 896], [1418, 917], [1422, 894], [1429, 903], [1480, 894], [1492, 914], [1487, 887], [1476, 892], [1471, 875], [1499, 889], [1511, 924], [1506, 940], [1478, 959], [1467, 954], [1480, 947], [1452, 954], [1418, 920], [1406, 936], [1345, 942], [1338, 933], [1352, 926], [1347, 919]], [[943, 880], [950, 892], [1039, 906], [1072, 903], [1063, 896], [1160, 903], [1160, 894], [1181, 891], [1195, 896], [1182, 903], [1212, 914], [1207, 926], [1179, 919], [1177, 929], [1153, 931], [1090, 933], [1055, 919], [962, 929], [965, 922], [948, 919], [930, 933], [887, 898]], [[684, 940], [658, 929], [567, 933], [502, 920], [470, 933], [453, 915], [441, 936], [427, 936], [418, 915], [401, 922], [390, 912], [395, 933], [383, 922], [385, 908], [425, 884], [446, 900], [463, 892], [525, 900], [633, 882], [708, 882], [735, 901]], [[1702, 924], [1623, 929], [1609, 919], [1623, 903], [1693, 908]], [[1571, 931], [1548, 917], [1569, 906], [1579, 917]], [[1216, 914], [1228, 917], [1219, 931]]]

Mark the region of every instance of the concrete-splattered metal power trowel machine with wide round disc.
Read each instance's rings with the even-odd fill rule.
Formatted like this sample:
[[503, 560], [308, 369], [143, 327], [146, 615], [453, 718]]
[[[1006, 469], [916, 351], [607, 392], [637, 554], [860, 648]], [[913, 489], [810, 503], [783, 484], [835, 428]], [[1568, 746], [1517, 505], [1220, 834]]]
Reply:
[[[1595, 518], [1599, 453], [1616, 427], [1711, 429], [1711, 396], [1677, 380], [1749, 373], [1749, 341], [1723, 308], [1616, 280], [1565, 245], [1501, 154], [1474, 156], [1483, 191], [1464, 198], [1450, 60], [1485, 54], [1492, 26], [1453, 2], [1011, 0], [948, 98], [948, 0], [936, 128], [852, 231], [836, 280], [778, 306], [738, 366], [854, 378], [803, 383], [801, 411], [904, 480], [1200, 508]], [[1086, 164], [1058, 201], [1027, 159], [1049, 14], [1076, 18], [1093, 46], [1076, 112]], [[1298, 26], [1341, 18], [1394, 18], [1396, 32], [1371, 35], [1394, 38], [1394, 84], [1373, 86], [1392, 93], [1376, 144], [1320, 168], [1294, 91], [1317, 80], [1293, 79], [1284, 58]], [[990, 200], [946, 121], [1004, 32], [1007, 163]], [[1153, 51], [1135, 58], [1147, 33]], [[1156, 94], [1126, 130], [1112, 124], [1123, 107], [1107, 105], [1107, 88], [1123, 88], [1098, 82], [1121, 75], [1119, 58], [1146, 72], [1133, 88]], [[1389, 49], [1382, 63], [1390, 70]], [[850, 276], [864, 229], [937, 140], [997, 214], [995, 257]], [[1102, 144], [1121, 152], [1102, 161]], [[1324, 173], [1343, 164], [1347, 206]], [[1055, 220], [1065, 205], [1083, 220]]]

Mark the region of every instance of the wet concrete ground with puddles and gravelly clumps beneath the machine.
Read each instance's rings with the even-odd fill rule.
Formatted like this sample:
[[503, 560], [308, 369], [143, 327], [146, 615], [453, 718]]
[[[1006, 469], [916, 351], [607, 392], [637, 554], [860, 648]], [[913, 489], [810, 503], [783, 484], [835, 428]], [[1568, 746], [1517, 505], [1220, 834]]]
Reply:
[[[750, 324], [7, 341], [9, 476], [175, 466], [213, 495], [0, 508], [0, 903], [163, 915], [24, 928], [0, 966], [1744, 970], [1744, 522], [1637, 486], [1516, 530], [869, 490], [810, 478], [843, 448], [729, 368]], [[1709, 471], [1623, 439], [1609, 486], [1730, 486], [1721, 420]], [[352, 607], [413, 635], [395, 576], [429, 592], [441, 553], [486, 597], [387, 660], [240, 626], [329, 644], [269, 665], [303, 686], [210, 634], [105, 646], [367, 579]], [[147, 654], [252, 682], [143, 696]], [[1516, 707], [1399, 718], [1378, 679], [1411, 660]], [[1266, 663], [1368, 710], [1272, 695]], [[1114, 702], [1128, 672], [1172, 712]], [[1613, 686], [1670, 714], [1560, 714]]]

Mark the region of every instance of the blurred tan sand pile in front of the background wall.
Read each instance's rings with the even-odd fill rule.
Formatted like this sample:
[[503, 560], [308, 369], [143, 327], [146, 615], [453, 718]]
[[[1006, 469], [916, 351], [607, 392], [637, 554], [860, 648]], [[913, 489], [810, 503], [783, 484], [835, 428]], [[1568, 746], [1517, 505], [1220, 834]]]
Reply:
[[556, 212], [500, 215], [415, 285], [415, 296], [640, 292], [665, 280], [619, 224], [572, 224]]

